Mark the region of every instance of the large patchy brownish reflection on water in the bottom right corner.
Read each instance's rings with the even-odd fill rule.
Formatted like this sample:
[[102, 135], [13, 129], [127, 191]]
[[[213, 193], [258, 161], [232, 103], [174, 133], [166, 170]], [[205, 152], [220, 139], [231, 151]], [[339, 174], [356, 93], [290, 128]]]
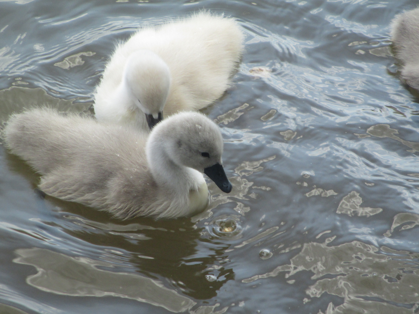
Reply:
[[[287, 272], [285, 278], [294, 278], [296, 273], [309, 270], [316, 283], [305, 291], [312, 299], [305, 298], [304, 303], [319, 298], [324, 292], [344, 299], [339, 306], [329, 304], [327, 314], [414, 313], [419, 307], [417, 253], [388, 247], [378, 249], [359, 241], [328, 246], [333, 239], [328, 238], [324, 243], [305, 243], [290, 264], [242, 282], [275, 277], [281, 272]], [[287, 282], [294, 284], [295, 280]]]

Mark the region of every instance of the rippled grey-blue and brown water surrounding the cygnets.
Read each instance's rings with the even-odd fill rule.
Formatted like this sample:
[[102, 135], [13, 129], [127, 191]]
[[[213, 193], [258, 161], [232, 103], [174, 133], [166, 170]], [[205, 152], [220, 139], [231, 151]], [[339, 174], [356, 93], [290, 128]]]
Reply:
[[418, 92], [391, 19], [417, 1], [0, 1], [0, 120], [87, 111], [114, 44], [202, 8], [240, 21], [235, 85], [205, 112], [230, 194], [130, 221], [54, 198], [0, 146], [1, 313], [416, 313]]

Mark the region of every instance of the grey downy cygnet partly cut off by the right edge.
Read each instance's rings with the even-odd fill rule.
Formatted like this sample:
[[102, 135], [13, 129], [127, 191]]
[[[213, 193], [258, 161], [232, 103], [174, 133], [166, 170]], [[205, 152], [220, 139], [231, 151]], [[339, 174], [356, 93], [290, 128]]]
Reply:
[[419, 8], [396, 15], [391, 40], [402, 62], [401, 80], [419, 90]]

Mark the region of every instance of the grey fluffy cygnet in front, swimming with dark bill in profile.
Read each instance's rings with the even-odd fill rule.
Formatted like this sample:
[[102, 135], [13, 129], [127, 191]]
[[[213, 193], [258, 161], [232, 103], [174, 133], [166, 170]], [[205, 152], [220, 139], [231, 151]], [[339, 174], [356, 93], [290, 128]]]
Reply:
[[4, 138], [41, 173], [44, 193], [120, 219], [202, 211], [208, 202], [203, 172], [225, 193], [232, 189], [221, 164], [220, 129], [197, 112], [173, 115], [149, 135], [38, 108], [12, 116]]

